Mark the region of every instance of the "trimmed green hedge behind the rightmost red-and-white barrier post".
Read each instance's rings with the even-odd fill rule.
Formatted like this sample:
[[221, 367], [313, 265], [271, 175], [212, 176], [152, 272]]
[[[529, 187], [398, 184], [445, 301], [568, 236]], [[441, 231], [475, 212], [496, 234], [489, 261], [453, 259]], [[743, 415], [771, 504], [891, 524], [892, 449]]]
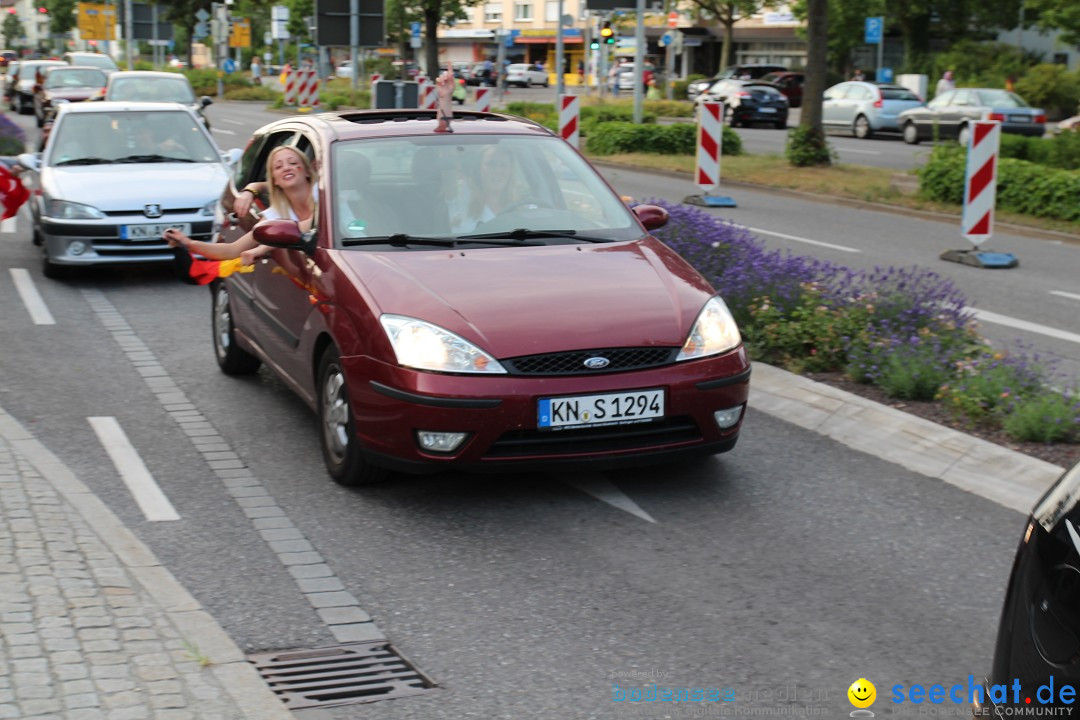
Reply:
[[[943, 203], [963, 203], [967, 151], [955, 144], [934, 148], [919, 169], [922, 196]], [[1080, 220], [1080, 172], [1058, 169], [1004, 158], [998, 164], [1000, 209], [1058, 220]]]

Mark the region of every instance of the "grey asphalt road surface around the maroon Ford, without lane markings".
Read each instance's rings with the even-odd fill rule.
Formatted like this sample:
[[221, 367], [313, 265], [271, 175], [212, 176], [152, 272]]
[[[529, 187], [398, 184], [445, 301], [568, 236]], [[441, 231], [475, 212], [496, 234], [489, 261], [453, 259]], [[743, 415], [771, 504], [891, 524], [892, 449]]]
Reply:
[[[257, 106], [211, 108], [222, 148], [242, 147], [276, 117]], [[610, 176], [640, 196], [681, 192], [669, 178]], [[949, 237], [932, 222], [766, 193], [740, 193], [740, 221], [859, 249], [837, 255], [848, 261], [892, 248], [907, 263], [935, 236]], [[103, 323], [126, 322], [346, 589], [440, 685], [298, 717], [678, 717], [616, 699], [616, 683], [657, 682], [731, 689], [729, 708], [839, 718], [859, 677], [885, 696], [895, 683], [966, 682], [989, 667], [1018, 513], [753, 408], [732, 452], [697, 463], [449, 474], [347, 491], [326, 477], [314, 418], [282, 383], [265, 369], [247, 379], [217, 370], [205, 289], [167, 270], [48, 281], [25, 219], [6, 230], [0, 407], [75, 470], [245, 651], [330, 642]], [[1015, 242], [1030, 243], [1012, 248], [1024, 254], [1024, 272], [994, 277], [1026, 309], [1037, 304], [1034, 287], [1069, 280], [1065, 253], [1076, 248]], [[12, 269], [29, 272], [55, 325], [31, 322]], [[1061, 323], [1069, 316], [1054, 312]], [[117, 418], [180, 520], [143, 517], [91, 417]]]

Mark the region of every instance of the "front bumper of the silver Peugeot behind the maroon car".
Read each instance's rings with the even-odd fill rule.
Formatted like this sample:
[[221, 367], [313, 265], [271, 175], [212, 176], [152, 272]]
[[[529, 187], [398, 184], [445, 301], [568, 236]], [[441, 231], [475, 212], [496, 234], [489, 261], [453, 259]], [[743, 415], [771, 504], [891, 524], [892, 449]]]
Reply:
[[[166, 215], [156, 222], [189, 222], [191, 239], [210, 242], [213, 220], [204, 215]], [[56, 220], [36, 218], [36, 231], [49, 261], [63, 266], [171, 262], [173, 249], [161, 237], [124, 240], [124, 225], [146, 225], [145, 216], [117, 216], [104, 220]]]

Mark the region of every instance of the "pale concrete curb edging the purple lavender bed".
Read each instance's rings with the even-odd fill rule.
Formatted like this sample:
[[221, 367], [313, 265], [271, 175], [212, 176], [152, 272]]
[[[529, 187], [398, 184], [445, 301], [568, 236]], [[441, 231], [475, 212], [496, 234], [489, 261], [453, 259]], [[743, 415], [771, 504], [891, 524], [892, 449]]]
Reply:
[[1065, 470], [923, 418], [754, 363], [751, 407], [1028, 514]]

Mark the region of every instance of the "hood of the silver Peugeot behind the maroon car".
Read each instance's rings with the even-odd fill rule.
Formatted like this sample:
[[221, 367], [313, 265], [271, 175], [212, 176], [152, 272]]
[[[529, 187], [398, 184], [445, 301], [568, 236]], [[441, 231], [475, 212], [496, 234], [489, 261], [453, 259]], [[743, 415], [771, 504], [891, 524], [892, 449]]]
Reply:
[[141, 163], [46, 167], [45, 194], [105, 212], [201, 208], [221, 193], [228, 179], [221, 163]]

